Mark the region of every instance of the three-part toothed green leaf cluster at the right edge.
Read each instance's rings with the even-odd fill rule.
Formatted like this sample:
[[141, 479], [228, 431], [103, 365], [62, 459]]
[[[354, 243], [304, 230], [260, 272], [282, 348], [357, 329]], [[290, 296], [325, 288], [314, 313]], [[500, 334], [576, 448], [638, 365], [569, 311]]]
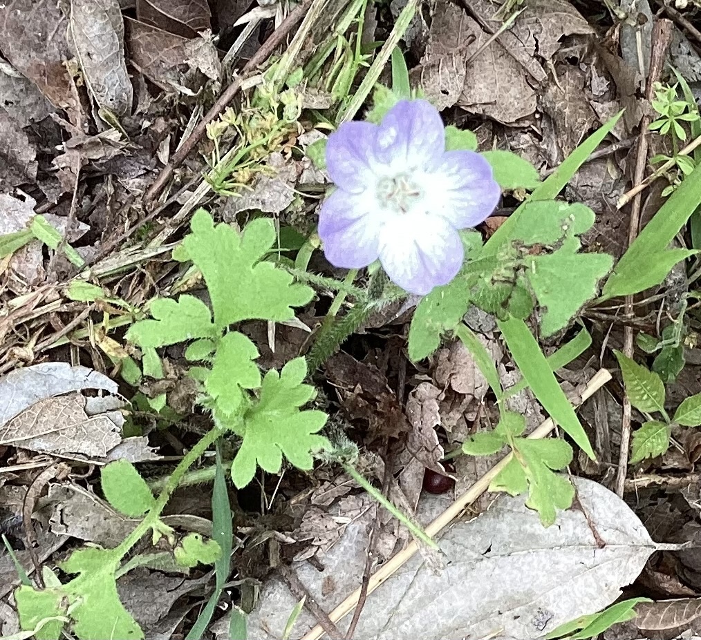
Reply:
[[[665, 410], [665, 384], [658, 373], [648, 370], [621, 352], [615, 352], [630, 403], [644, 413], [647, 422], [633, 433], [632, 464], [660, 456], [669, 449], [673, 426], [701, 426], [701, 394], [685, 398], [672, 419]], [[659, 414], [662, 420], [653, 419]]]

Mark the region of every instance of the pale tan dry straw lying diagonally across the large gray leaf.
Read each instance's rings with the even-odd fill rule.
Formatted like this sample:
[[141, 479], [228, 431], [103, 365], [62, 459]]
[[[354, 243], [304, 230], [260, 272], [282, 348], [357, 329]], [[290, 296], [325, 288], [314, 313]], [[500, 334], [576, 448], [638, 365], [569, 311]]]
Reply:
[[[596, 393], [601, 387], [611, 380], [611, 373], [606, 369], [601, 369], [597, 372], [592, 380], [582, 393], [582, 402], [591, 398], [594, 393]], [[545, 438], [545, 436], [554, 429], [554, 422], [550, 418], [545, 420], [543, 424], [538, 426], [537, 429], [529, 435], [529, 438]], [[460, 515], [465, 507], [469, 506], [475, 502], [479, 496], [481, 496], [489, 487], [492, 480], [498, 475], [498, 473], [509, 463], [512, 454], [506, 456], [503, 460], [494, 465], [487, 473], [485, 473], [482, 478], [477, 480], [468, 491], [466, 491], [462, 496], [460, 496], [454, 503], [449, 506], [441, 515], [439, 515], [433, 522], [431, 522], [428, 527], [426, 527], [426, 534], [433, 537], [440, 533], [445, 527], [447, 527], [458, 515]], [[370, 578], [369, 585], [367, 588], [368, 594], [372, 593], [379, 587], [382, 583], [386, 582], [393, 574], [402, 566], [409, 558], [411, 558], [414, 553], [418, 551], [418, 545], [415, 542], [409, 543], [407, 548], [400, 551], [392, 559], [390, 559], [386, 564], [383, 564], [381, 569], [379, 569], [372, 578]], [[360, 597], [360, 589], [355, 590], [351, 595], [349, 595], [339, 606], [337, 606], [334, 611], [329, 613], [329, 619], [336, 624], [345, 616], [346, 614], [353, 611], [353, 608], [358, 604], [358, 598]], [[324, 634], [324, 629], [320, 626], [316, 626], [311, 629], [308, 634], [306, 634], [301, 640], [318, 640]]]

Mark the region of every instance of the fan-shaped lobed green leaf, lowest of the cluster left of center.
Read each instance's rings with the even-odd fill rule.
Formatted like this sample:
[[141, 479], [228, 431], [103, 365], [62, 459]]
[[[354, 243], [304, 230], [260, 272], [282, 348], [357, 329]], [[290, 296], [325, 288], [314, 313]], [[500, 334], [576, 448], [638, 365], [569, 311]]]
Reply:
[[231, 465], [236, 487], [245, 487], [256, 466], [278, 473], [285, 457], [299, 469], [311, 469], [311, 452], [328, 445], [315, 435], [326, 424], [327, 415], [318, 410], [299, 408], [311, 400], [314, 388], [304, 384], [306, 362], [296, 358], [278, 375], [271, 370], [261, 385], [260, 399], [245, 415], [243, 443]]

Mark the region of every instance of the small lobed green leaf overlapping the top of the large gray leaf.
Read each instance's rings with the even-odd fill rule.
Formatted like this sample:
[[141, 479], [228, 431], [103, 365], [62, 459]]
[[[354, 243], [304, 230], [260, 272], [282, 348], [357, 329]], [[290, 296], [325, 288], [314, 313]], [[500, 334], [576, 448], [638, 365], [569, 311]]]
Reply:
[[515, 446], [524, 461], [529, 485], [526, 506], [538, 511], [540, 522], [550, 527], [557, 517], [556, 509], [569, 508], [574, 498], [572, 483], [563, 475], [553, 473], [572, 461], [572, 447], [559, 438], [519, 438]]

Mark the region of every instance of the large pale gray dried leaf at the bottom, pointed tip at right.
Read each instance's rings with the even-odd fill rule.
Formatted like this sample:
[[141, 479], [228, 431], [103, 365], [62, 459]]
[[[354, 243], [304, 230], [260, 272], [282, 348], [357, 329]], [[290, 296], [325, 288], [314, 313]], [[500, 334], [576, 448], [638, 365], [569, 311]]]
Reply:
[[[445, 569], [431, 573], [415, 555], [369, 595], [354, 638], [540, 639], [564, 622], [611, 604], [658, 546], [613, 492], [590, 480], [575, 482], [587, 515], [582, 510], [560, 512], [556, 524], [547, 529], [526, 508], [523, 497], [503, 497], [475, 520], [454, 524], [440, 540], [449, 560]], [[606, 543], [603, 548], [592, 527]], [[301, 582], [327, 611], [357, 586], [365, 555], [356, 559], [355, 548], [365, 551], [364, 536], [362, 527], [349, 524], [347, 533], [320, 559], [325, 571], [308, 563], [296, 568]], [[327, 573], [337, 578], [332, 597], [321, 592]], [[342, 578], [348, 584], [341, 584]], [[294, 604], [296, 599], [277, 578], [269, 580], [248, 619], [250, 636], [280, 637]], [[349, 617], [339, 623], [341, 632]], [[290, 637], [299, 639], [313, 625], [313, 616], [303, 611]]]

